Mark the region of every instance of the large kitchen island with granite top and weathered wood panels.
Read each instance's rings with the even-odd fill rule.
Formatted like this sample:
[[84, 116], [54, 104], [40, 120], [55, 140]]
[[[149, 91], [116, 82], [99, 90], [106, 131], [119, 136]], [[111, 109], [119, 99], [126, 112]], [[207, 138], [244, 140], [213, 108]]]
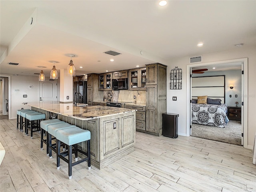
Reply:
[[[57, 101], [28, 103], [32, 110], [91, 132], [91, 163], [98, 169], [134, 151], [136, 110], [108, 106], [73, 106]], [[86, 150], [86, 142], [80, 147]]]

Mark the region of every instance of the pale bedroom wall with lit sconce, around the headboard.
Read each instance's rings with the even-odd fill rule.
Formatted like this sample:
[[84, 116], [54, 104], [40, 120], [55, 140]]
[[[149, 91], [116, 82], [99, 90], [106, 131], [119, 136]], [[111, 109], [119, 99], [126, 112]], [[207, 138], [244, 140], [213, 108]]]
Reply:
[[[202, 76], [218, 76], [225, 75], [225, 97], [226, 104], [228, 106], [236, 106], [237, 101], [241, 106], [241, 94], [242, 94], [242, 77], [241, 70], [229, 70], [229, 71], [211, 71], [205, 72], [203, 74], [192, 74], [192, 77], [202, 77]], [[230, 84], [234, 84], [234, 88], [230, 89]], [[230, 98], [231, 95], [231, 98]], [[235, 97], [237, 95], [237, 98]]]

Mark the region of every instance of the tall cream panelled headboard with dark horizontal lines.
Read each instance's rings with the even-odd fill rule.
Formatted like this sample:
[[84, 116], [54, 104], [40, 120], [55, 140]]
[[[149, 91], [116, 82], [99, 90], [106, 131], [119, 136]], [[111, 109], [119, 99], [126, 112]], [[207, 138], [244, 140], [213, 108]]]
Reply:
[[192, 98], [205, 96], [212, 99], [221, 99], [225, 103], [225, 76], [192, 77]]

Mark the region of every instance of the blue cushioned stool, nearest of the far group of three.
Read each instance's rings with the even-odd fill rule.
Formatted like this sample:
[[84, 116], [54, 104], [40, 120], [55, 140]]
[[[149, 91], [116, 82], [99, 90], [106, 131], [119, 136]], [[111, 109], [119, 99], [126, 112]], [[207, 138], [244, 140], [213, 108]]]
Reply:
[[27, 113], [26, 114], [26, 135], [30, 129], [30, 138], [33, 138], [33, 132], [40, 131], [40, 121], [45, 120], [44, 113]]

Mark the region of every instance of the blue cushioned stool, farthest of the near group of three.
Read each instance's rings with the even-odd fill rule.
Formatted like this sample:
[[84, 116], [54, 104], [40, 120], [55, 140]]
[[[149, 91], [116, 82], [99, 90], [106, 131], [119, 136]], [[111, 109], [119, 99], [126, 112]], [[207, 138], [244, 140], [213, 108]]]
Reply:
[[[48, 134], [48, 126], [54, 125], [58, 123], [64, 123], [64, 121], [61, 121], [59, 119], [50, 119], [50, 120], [44, 120], [40, 122], [41, 127], [41, 150], [43, 150], [43, 142], [46, 144], [46, 154], [49, 156], [49, 134]], [[46, 132], [46, 139], [44, 139], [44, 132]]]

